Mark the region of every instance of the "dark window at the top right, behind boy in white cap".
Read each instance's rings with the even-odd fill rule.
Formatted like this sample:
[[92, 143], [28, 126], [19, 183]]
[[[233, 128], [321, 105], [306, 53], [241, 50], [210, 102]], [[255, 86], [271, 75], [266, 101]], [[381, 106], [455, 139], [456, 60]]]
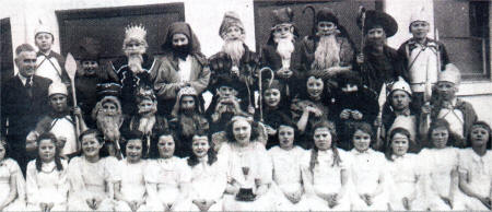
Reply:
[[440, 40], [464, 80], [490, 79], [489, 11], [489, 1], [434, 0]]

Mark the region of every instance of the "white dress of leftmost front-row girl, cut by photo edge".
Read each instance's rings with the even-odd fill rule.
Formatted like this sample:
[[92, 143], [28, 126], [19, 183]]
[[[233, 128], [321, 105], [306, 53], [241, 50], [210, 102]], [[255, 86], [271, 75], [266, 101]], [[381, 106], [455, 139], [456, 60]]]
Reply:
[[3, 211], [22, 211], [25, 209], [25, 180], [17, 162], [11, 158], [0, 161], [0, 202], [4, 202], [10, 193], [10, 179], [14, 176], [17, 197]]

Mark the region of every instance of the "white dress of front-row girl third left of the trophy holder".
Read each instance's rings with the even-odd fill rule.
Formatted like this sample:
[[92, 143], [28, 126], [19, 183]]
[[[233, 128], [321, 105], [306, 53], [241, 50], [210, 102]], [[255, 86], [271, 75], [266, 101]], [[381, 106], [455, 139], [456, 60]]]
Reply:
[[[147, 161], [140, 160], [139, 163], [131, 164], [127, 160], [118, 161], [115, 182], [120, 182], [120, 191], [125, 200], [141, 201], [143, 204], [137, 211], [147, 211], [145, 199], [147, 188], [143, 173], [147, 167]], [[127, 202], [116, 201], [115, 211], [131, 211]]]

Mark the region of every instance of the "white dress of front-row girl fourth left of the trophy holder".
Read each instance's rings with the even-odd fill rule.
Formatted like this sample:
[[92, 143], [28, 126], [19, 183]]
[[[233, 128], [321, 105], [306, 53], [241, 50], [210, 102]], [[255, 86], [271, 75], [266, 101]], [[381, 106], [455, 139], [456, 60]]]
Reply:
[[69, 164], [69, 211], [92, 211], [86, 200], [97, 198], [101, 204], [97, 211], [114, 210], [114, 182], [116, 157], [107, 156], [96, 163], [85, 156], [73, 157]]

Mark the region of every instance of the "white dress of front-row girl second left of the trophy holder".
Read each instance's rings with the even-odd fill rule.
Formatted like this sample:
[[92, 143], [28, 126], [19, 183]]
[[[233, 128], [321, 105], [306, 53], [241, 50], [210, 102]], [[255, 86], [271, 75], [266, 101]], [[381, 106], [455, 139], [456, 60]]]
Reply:
[[163, 211], [164, 204], [173, 204], [175, 211], [189, 208], [186, 197], [181, 197], [180, 188], [180, 185], [191, 180], [190, 168], [184, 160], [176, 156], [150, 160], [144, 170], [144, 179], [149, 192], [149, 210]]

